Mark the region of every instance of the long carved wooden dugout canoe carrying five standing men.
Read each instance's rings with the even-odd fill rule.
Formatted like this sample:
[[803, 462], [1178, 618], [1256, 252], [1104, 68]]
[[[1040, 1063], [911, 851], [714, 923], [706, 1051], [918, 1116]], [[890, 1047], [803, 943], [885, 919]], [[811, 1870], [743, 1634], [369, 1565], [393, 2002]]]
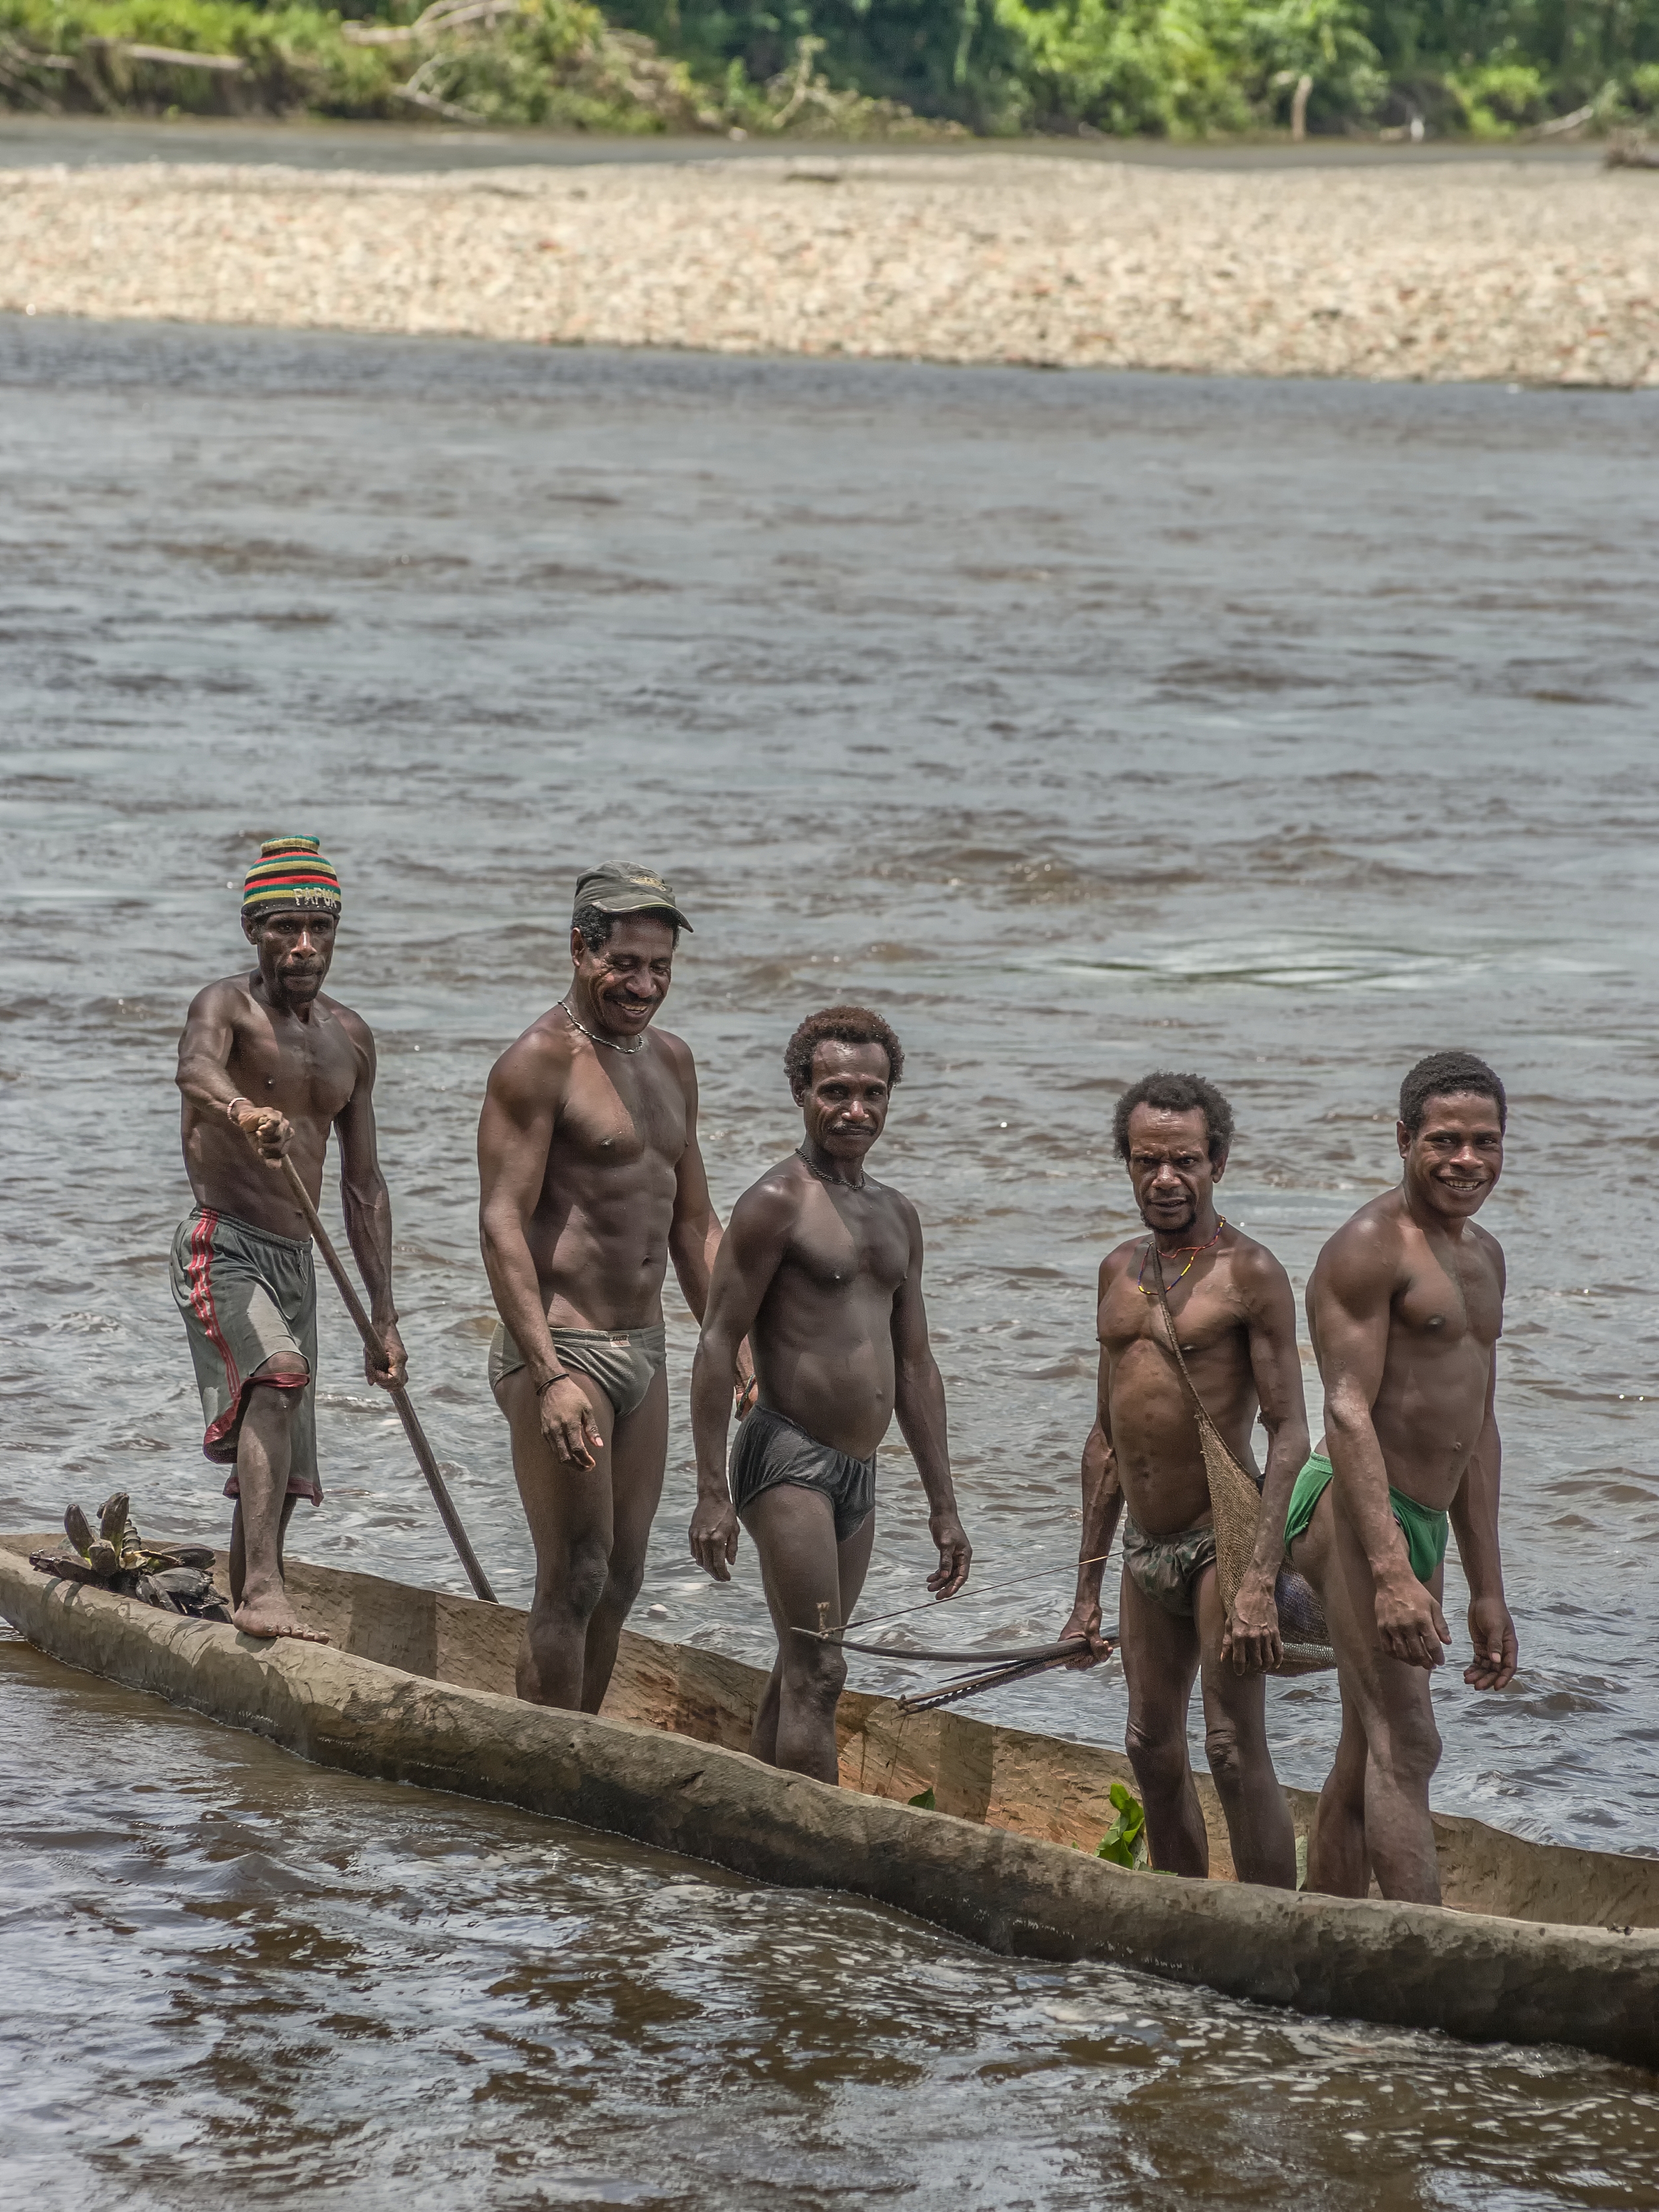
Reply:
[[[1564, 2042], [1659, 2070], [1659, 1860], [1436, 1823], [1447, 1907], [1181, 1882], [1093, 1856], [1106, 1750], [847, 1694], [841, 1790], [741, 1745], [763, 1674], [624, 1635], [599, 1719], [513, 1697], [522, 1613], [294, 1562], [334, 1639], [259, 1644], [46, 1577], [0, 1537], [0, 1615], [69, 1666], [319, 1765], [520, 1805], [763, 1882], [838, 1889], [991, 1951], [1097, 1958], [1303, 2013]], [[933, 1792], [936, 1809], [907, 1798]], [[1212, 1851], [1225, 1832], [1203, 1790]], [[1298, 1825], [1312, 1812], [1290, 1792]], [[1217, 1849], [1219, 1847], [1219, 1849]]]

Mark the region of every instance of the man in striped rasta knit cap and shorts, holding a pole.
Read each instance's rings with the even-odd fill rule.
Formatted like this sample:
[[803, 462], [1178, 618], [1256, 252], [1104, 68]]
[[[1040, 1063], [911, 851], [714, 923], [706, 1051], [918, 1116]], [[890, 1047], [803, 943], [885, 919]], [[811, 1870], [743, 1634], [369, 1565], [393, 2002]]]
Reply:
[[341, 880], [316, 838], [268, 838], [248, 869], [241, 929], [257, 967], [199, 991], [179, 1037], [184, 1166], [195, 1212], [173, 1241], [173, 1296], [190, 1338], [206, 1436], [230, 1467], [230, 1595], [252, 1637], [327, 1641], [283, 1588], [283, 1533], [316, 1471], [316, 1276], [281, 1159], [316, 1203], [330, 1130], [345, 1234], [369, 1290], [369, 1383], [405, 1378], [392, 1303], [392, 1201], [374, 1150], [374, 1037], [325, 998]]

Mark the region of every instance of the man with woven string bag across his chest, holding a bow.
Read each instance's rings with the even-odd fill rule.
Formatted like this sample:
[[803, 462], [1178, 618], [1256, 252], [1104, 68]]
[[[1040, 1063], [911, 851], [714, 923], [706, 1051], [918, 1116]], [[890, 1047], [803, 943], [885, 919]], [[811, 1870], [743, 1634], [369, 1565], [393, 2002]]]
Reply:
[[[1126, 1747], [1152, 1865], [1210, 1871], [1186, 1750], [1201, 1672], [1206, 1752], [1239, 1880], [1294, 1889], [1296, 1836], [1267, 1752], [1263, 1668], [1283, 1655], [1274, 1584], [1290, 1491], [1307, 1455], [1296, 1301], [1272, 1252], [1217, 1212], [1232, 1108], [1214, 1084], [1141, 1077], [1117, 1102], [1113, 1137], [1150, 1239], [1130, 1237], [1099, 1265], [1099, 1413], [1084, 1444], [1077, 1604], [1062, 1637], [1102, 1648], [1099, 1584], [1121, 1513]], [[1254, 1467], [1256, 1420], [1267, 1431], [1256, 1548], [1230, 1615], [1217, 1586], [1199, 1429], [1148, 1276], [1152, 1241], [1197, 1394], [1245, 1469]]]

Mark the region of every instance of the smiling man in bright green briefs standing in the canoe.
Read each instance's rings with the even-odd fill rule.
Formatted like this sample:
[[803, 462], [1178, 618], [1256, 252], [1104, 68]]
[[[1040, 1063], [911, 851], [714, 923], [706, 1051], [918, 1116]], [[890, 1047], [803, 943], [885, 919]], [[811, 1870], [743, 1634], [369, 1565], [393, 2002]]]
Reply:
[[1307, 1325], [1325, 1438], [1296, 1478], [1285, 1544], [1325, 1601], [1343, 1739], [1318, 1798], [1307, 1887], [1440, 1902], [1429, 1683], [1451, 1641], [1447, 1533], [1469, 1577], [1473, 1690], [1515, 1674], [1498, 1557], [1493, 1413], [1504, 1254], [1475, 1225], [1504, 1166], [1504, 1086], [1473, 1053], [1431, 1053], [1400, 1084], [1400, 1186], [1318, 1254]]

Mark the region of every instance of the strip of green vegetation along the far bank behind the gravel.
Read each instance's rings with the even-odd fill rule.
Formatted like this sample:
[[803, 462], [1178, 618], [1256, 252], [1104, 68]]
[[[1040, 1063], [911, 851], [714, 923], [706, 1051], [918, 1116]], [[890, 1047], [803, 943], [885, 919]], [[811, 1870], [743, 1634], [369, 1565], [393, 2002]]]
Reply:
[[1506, 137], [1659, 117], [1659, 0], [0, 0], [0, 102], [836, 137], [1203, 137], [1301, 115]]

